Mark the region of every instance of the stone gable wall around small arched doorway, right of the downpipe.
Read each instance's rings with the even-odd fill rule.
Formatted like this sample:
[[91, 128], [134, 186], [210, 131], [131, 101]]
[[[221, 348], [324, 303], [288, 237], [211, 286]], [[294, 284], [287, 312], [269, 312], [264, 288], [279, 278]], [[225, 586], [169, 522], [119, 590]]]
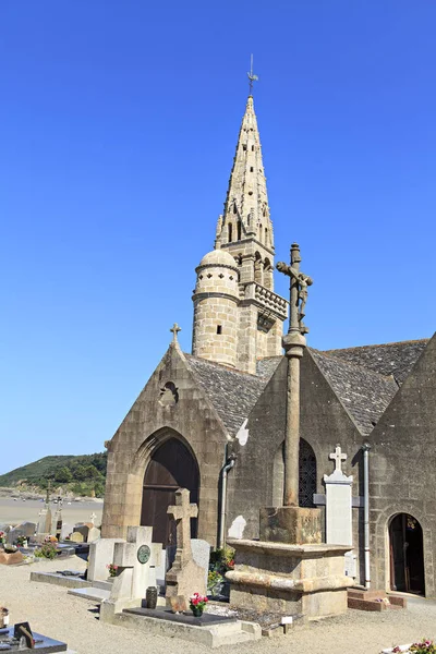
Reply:
[[388, 526], [410, 513], [423, 530], [425, 594], [436, 596], [436, 337], [368, 437], [371, 577], [390, 582]]

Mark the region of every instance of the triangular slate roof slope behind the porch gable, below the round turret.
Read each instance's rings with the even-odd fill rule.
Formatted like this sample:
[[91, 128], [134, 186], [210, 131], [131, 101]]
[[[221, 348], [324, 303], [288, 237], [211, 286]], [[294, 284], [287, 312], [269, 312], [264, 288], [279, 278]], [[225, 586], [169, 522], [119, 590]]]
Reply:
[[241, 373], [192, 354], [185, 354], [185, 358], [229, 435], [235, 436], [269, 377]]

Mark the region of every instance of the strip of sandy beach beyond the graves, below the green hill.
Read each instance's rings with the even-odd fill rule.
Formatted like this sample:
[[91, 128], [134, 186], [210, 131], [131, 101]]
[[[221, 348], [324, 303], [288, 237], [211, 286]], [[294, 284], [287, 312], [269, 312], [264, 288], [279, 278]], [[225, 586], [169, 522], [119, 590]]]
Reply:
[[[56, 504], [50, 505], [51, 511], [55, 513]], [[19, 498], [0, 497], [0, 524], [19, 524], [20, 522], [29, 521], [38, 522], [38, 513], [44, 507], [44, 501], [37, 499], [23, 500]], [[76, 522], [88, 522], [90, 514], [95, 512], [96, 526], [101, 524], [102, 501], [72, 501], [70, 505], [64, 501], [62, 506], [62, 520], [69, 524]]]

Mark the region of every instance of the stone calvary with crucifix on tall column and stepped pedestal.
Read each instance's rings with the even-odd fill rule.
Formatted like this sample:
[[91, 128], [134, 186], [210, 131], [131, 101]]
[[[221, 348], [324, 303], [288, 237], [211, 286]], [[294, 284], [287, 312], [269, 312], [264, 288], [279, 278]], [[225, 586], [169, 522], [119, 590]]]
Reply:
[[303, 323], [307, 287], [313, 280], [300, 271], [300, 249], [291, 246], [291, 265], [278, 270], [290, 277], [289, 332], [282, 344], [288, 359], [284, 434], [283, 506], [259, 511], [259, 541], [229, 540], [235, 549], [230, 604], [284, 616], [314, 619], [347, 610], [344, 554], [350, 545], [322, 543], [320, 510], [299, 507], [300, 360], [308, 329]]

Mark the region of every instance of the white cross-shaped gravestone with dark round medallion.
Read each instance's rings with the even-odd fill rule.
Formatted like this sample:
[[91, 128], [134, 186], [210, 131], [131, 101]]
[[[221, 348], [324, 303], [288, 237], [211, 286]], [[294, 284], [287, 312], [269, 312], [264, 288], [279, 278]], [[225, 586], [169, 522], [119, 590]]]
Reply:
[[153, 526], [128, 526], [126, 542], [114, 543], [113, 565], [118, 566], [109, 600], [100, 605], [100, 620], [112, 622], [114, 614], [137, 606], [146, 589], [156, 584], [160, 543], [153, 543]]

